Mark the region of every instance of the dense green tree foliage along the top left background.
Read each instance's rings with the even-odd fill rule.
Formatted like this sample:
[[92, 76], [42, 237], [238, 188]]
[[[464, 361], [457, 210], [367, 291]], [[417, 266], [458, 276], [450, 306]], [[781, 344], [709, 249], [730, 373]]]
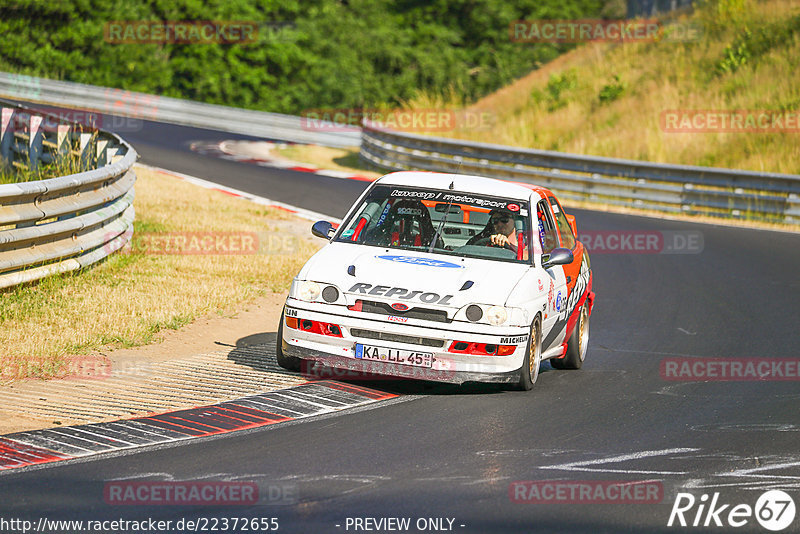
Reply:
[[[4, 0], [0, 69], [297, 114], [472, 101], [570, 45], [516, 43], [509, 24], [597, 17], [601, 0]], [[113, 44], [112, 21], [245, 20], [250, 44]]]

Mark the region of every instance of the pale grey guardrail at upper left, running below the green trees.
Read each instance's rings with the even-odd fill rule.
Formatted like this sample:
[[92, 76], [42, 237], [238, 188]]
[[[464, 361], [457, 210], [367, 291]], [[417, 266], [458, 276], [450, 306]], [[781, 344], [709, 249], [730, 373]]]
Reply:
[[358, 146], [361, 141], [361, 134], [357, 130], [331, 132], [319, 127], [310, 128], [305, 119], [292, 115], [217, 106], [8, 72], [0, 72], [0, 96], [296, 143], [349, 147]]

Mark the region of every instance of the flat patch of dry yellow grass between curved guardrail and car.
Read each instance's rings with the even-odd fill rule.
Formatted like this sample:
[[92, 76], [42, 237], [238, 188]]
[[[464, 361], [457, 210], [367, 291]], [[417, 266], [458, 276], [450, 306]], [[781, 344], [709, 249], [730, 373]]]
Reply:
[[57, 376], [70, 355], [146, 344], [162, 329], [285, 291], [319, 247], [306, 224], [281, 210], [142, 168], [136, 174], [136, 239], [164, 232], [282, 239], [262, 239], [260, 253], [238, 255], [152, 254], [138, 246], [85, 272], [12, 288], [0, 298], [0, 379]]

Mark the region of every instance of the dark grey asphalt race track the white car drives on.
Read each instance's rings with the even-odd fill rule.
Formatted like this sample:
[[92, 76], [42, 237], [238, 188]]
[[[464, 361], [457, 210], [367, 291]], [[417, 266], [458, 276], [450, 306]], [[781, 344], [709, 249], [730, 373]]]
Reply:
[[[332, 216], [343, 216], [366, 185], [187, 148], [241, 136], [156, 123], [123, 135], [143, 163]], [[796, 375], [688, 381], [662, 371], [680, 358], [796, 362], [800, 235], [570, 211], [579, 232], [695, 232], [703, 244], [693, 254], [592, 254], [597, 298], [582, 370], [544, 364], [531, 392], [362, 383], [401, 396], [180, 445], [3, 472], [0, 516], [173, 525], [182, 518], [277, 518], [279, 532], [309, 533], [766, 532], [754, 517], [734, 529], [728, 512], [754, 507], [770, 489], [800, 506]], [[263, 328], [274, 332], [276, 325]], [[239, 506], [109, 504], [104, 490], [114, 481], [254, 482], [262, 499]], [[648, 483], [660, 488], [660, 503], [513, 502], [515, 481]], [[701, 526], [668, 527], [679, 492], [697, 500], [685, 514], [690, 525], [702, 496], [708, 509], [719, 493], [718, 504], [730, 505], [716, 516], [724, 526], [713, 528], [714, 518], [702, 511]], [[408, 518], [410, 526], [392, 528], [402, 523], [388, 518]], [[221, 524], [217, 531], [224, 531]], [[800, 531], [800, 517], [790, 531]]]

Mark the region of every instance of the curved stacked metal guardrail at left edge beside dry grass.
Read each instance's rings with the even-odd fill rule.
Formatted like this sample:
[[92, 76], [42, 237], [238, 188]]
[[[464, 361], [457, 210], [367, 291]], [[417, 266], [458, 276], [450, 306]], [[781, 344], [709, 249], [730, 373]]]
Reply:
[[133, 234], [136, 151], [114, 134], [0, 100], [0, 165], [83, 172], [0, 184], [0, 288], [91, 265]]

